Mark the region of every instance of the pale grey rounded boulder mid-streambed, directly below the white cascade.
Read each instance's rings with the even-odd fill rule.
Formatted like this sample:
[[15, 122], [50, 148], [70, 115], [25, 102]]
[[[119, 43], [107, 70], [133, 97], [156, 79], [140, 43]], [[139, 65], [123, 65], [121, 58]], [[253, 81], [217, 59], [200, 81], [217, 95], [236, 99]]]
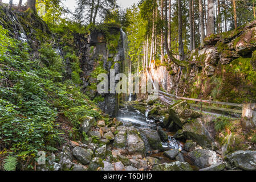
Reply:
[[127, 150], [129, 154], [141, 154], [145, 156], [145, 144], [143, 140], [136, 134], [127, 136]]

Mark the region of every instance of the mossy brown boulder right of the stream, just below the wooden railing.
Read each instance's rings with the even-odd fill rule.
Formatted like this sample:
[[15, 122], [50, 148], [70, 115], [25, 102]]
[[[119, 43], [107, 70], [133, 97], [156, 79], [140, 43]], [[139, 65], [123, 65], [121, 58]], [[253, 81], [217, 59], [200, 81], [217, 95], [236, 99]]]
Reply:
[[213, 138], [201, 121], [201, 118], [186, 123], [182, 128], [186, 138], [196, 141], [202, 147], [211, 147]]

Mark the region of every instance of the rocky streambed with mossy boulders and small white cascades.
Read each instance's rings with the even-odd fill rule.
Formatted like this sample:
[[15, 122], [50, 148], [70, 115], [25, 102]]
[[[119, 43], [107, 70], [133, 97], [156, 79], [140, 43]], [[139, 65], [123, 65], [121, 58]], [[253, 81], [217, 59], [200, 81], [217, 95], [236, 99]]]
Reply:
[[87, 140], [69, 141], [38, 170], [192, 171], [256, 170], [255, 151], [224, 156], [214, 142], [212, 116], [186, 102], [128, 101], [109, 123], [87, 117]]

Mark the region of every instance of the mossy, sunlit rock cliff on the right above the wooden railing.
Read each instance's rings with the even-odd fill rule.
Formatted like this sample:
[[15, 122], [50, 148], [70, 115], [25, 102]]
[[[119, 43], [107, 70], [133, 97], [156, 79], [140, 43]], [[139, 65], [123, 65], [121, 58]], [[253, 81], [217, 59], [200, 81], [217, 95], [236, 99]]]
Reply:
[[[174, 64], [151, 68], [162, 88], [179, 96], [229, 102], [256, 101], [256, 21], [212, 35], [189, 56], [192, 69]], [[154, 74], [155, 73], [155, 74]]]

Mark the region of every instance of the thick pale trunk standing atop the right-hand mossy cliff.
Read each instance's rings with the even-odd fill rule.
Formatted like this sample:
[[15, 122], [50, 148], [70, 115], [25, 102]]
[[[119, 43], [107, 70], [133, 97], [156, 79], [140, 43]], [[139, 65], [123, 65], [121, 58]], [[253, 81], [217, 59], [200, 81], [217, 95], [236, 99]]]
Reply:
[[214, 0], [208, 0], [208, 18], [207, 18], [206, 36], [210, 36], [215, 33], [214, 27]]

